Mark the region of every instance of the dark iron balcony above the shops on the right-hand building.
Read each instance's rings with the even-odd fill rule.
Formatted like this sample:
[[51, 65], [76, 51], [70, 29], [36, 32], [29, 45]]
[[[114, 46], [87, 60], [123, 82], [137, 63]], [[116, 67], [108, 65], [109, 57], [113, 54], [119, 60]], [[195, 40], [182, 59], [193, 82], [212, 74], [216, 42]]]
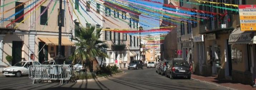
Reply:
[[209, 34], [225, 30], [233, 30], [231, 25], [230, 14], [227, 14], [225, 19], [209, 18], [200, 22], [200, 34]]

